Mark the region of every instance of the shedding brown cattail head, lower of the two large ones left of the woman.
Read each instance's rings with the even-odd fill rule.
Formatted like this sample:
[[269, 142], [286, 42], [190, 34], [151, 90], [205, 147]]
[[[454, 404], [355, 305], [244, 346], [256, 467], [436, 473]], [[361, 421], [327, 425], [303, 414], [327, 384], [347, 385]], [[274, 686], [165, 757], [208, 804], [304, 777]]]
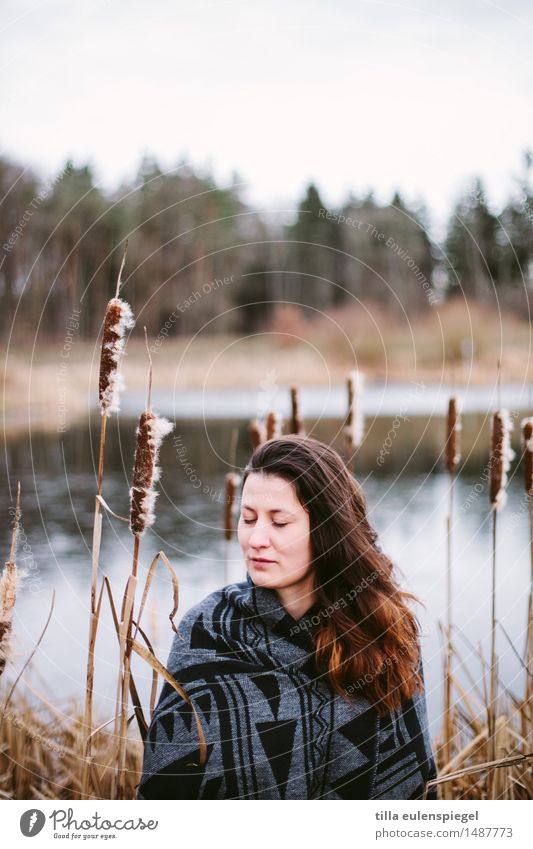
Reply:
[[159, 449], [173, 427], [167, 419], [151, 410], [141, 413], [136, 430], [133, 485], [130, 489], [130, 529], [137, 537], [154, 523], [157, 498], [154, 484], [159, 480], [161, 471], [157, 465]]

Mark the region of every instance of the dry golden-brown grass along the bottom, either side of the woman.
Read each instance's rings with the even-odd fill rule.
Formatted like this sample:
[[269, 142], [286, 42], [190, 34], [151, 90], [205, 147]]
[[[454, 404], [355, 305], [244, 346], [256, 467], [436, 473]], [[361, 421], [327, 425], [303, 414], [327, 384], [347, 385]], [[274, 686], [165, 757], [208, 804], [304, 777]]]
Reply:
[[[461, 659], [458, 657], [457, 664]], [[442, 738], [436, 741], [439, 795], [448, 799], [482, 800], [488, 797], [488, 729], [486, 705], [477, 687], [468, 694], [454, 680], [457, 701], [450, 757], [444, 759]], [[5, 691], [0, 694], [3, 706]], [[79, 799], [82, 786], [80, 728], [83, 708], [60, 712], [42, 697], [32, 699], [19, 691], [2, 718], [0, 709], [0, 797], [4, 799]], [[98, 720], [96, 725], [98, 727]], [[103, 720], [102, 720], [103, 722]], [[114, 797], [113, 734], [107, 728], [93, 738], [89, 798]], [[533, 799], [531, 717], [525, 701], [508, 697], [496, 720], [494, 798]], [[529, 754], [529, 760], [525, 755]], [[124, 798], [135, 799], [142, 768], [142, 742], [128, 737]], [[453, 778], [452, 778], [453, 776]], [[445, 793], [446, 790], [446, 793]]]

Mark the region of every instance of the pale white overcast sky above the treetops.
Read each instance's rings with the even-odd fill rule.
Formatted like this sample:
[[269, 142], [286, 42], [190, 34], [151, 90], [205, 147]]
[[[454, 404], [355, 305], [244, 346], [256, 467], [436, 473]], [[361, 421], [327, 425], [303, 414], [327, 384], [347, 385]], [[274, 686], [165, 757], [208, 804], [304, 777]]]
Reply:
[[438, 225], [533, 147], [531, 0], [2, 0], [0, 150], [114, 186], [145, 153], [237, 170], [256, 207], [374, 188]]

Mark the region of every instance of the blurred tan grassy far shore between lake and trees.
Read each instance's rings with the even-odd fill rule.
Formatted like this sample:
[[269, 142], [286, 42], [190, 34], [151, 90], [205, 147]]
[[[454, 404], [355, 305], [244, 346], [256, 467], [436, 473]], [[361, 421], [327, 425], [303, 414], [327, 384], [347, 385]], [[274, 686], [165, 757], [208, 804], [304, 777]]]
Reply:
[[[152, 346], [153, 390], [261, 389], [344, 384], [359, 369], [366, 384], [413, 381], [494, 386], [502, 358], [502, 383], [533, 383], [531, 325], [495, 310], [447, 304], [397, 326], [345, 316], [342, 333], [322, 322], [298, 332], [280, 328], [240, 336], [166, 338]], [[294, 328], [296, 331], [296, 328]], [[347, 341], [348, 340], [348, 341]], [[350, 341], [351, 340], [351, 341]], [[342, 343], [342, 344], [341, 344]], [[32, 429], [58, 430], [87, 418], [97, 399], [100, 343], [73, 339], [40, 344], [35, 353], [13, 346], [4, 353], [4, 426], [7, 436]], [[445, 365], [444, 365], [445, 364]], [[453, 365], [452, 365], [453, 364]], [[122, 372], [136, 394], [147, 384], [148, 354], [142, 338], [128, 341]]]

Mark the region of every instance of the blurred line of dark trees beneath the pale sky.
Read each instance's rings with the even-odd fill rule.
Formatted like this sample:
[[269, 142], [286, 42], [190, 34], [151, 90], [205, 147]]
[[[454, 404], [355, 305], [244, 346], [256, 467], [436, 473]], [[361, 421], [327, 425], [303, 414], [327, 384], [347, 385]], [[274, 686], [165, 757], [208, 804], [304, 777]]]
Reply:
[[[41, 338], [54, 339], [80, 310], [80, 334], [94, 338], [126, 238], [127, 298], [138, 327], [154, 333], [172, 313], [172, 333], [232, 333], [268, 325], [281, 303], [307, 315], [354, 299], [413, 312], [463, 293], [527, 315], [531, 167], [525, 152], [498, 212], [480, 179], [465, 187], [446, 238], [435, 244], [425, 206], [399, 193], [386, 204], [351, 194], [331, 209], [310, 184], [293, 213], [265, 213], [238, 186], [217, 185], [185, 163], [163, 172], [145, 158], [130, 182], [105, 191], [89, 165], [69, 161], [44, 182], [0, 158], [0, 322], [4, 331], [15, 324], [33, 335], [38, 327]], [[215, 298], [202, 297], [215, 290]]]

